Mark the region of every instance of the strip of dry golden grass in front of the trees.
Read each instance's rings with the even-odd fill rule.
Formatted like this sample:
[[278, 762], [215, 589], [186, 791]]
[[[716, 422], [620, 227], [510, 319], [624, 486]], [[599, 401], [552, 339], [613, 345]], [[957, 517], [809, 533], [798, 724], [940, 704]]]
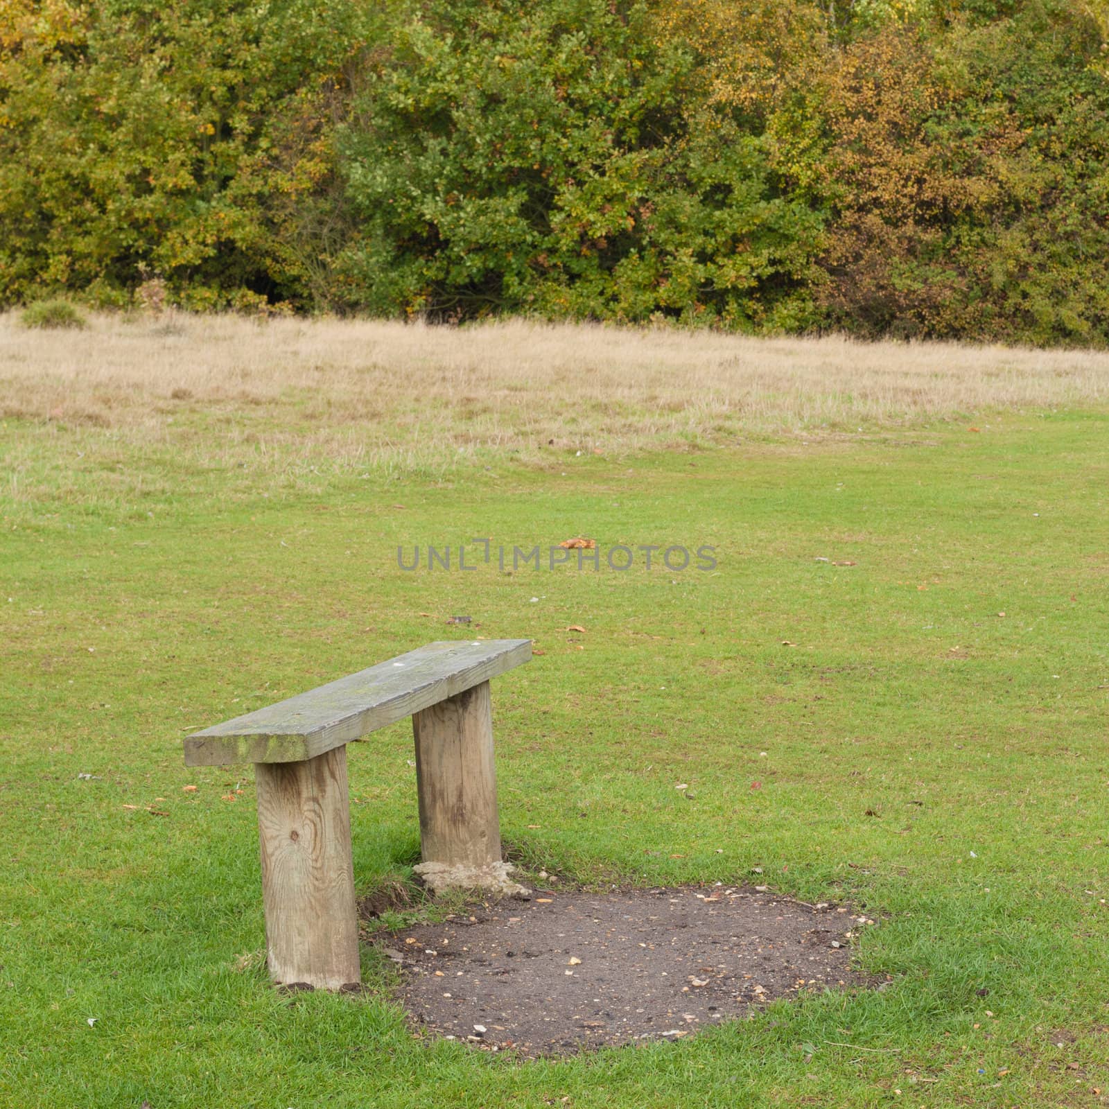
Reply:
[[0, 417], [220, 465], [630, 451], [1109, 399], [1109, 355], [523, 322], [0, 316]]

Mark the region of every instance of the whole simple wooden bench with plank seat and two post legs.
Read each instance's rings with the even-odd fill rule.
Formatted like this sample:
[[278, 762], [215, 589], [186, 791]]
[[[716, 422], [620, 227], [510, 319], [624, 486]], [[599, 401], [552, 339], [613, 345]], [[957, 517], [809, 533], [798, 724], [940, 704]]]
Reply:
[[413, 718], [424, 863], [500, 865], [489, 680], [531, 641], [429, 643], [185, 740], [185, 765], [254, 763], [266, 960], [277, 983], [360, 980], [346, 744]]

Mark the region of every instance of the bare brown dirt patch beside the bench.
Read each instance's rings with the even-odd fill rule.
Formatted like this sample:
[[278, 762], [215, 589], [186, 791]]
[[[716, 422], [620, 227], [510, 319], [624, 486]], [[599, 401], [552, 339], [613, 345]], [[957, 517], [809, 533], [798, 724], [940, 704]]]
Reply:
[[866, 919], [741, 887], [538, 891], [379, 944], [420, 1028], [558, 1055], [685, 1038], [777, 997], [868, 985], [849, 953]]

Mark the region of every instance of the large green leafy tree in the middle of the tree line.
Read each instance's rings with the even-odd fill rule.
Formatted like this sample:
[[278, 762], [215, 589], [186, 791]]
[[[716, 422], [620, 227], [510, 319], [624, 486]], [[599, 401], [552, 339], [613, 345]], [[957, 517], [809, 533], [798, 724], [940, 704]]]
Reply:
[[647, 6], [427, 6], [366, 75], [342, 149], [352, 301], [436, 317], [773, 324], [818, 222], [757, 128], [691, 115], [698, 62]]

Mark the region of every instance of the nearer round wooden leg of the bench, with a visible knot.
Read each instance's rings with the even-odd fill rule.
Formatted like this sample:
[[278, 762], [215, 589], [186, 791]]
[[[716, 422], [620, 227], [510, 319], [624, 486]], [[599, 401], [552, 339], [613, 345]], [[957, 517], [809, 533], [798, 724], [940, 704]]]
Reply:
[[269, 976], [322, 989], [358, 983], [346, 747], [255, 763], [254, 779]]

